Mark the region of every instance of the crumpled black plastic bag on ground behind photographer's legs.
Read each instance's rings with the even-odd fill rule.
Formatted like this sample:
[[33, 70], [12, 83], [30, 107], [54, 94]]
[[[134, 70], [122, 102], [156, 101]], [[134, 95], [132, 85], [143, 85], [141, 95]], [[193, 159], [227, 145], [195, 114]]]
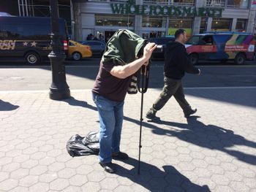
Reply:
[[98, 155], [99, 132], [91, 131], [86, 137], [75, 134], [67, 141], [67, 152], [70, 156]]

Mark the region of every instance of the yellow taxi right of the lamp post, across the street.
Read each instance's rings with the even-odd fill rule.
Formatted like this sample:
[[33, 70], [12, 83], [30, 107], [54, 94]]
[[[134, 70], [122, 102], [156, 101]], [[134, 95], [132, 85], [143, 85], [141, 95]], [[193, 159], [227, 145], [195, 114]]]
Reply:
[[69, 58], [79, 61], [82, 58], [89, 58], [91, 55], [91, 47], [89, 45], [82, 45], [79, 42], [69, 40]]

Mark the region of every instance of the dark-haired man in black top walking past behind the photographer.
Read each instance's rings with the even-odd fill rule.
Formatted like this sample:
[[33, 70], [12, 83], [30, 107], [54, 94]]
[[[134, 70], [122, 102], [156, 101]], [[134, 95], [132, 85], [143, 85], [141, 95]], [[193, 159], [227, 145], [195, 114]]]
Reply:
[[185, 99], [184, 90], [181, 83], [181, 78], [184, 77], [185, 72], [190, 74], [200, 74], [200, 69], [192, 66], [187, 54], [184, 43], [187, 41], [186, 31], [182, 28], [175, 33], [176, 40], [168, 42], [165, 51], [165, 66], [164, 66], [164, 88], [153, 106], [148, 110], [146, 118], [152, 121], [159, 121], [160, 118], [156, 116], [157, 111], [165, 106], [171, 96], [174, 96], [181, 109], [184, 112], [185, 118], [197, 112], [197, 109], [192, 110], [189, 103]]

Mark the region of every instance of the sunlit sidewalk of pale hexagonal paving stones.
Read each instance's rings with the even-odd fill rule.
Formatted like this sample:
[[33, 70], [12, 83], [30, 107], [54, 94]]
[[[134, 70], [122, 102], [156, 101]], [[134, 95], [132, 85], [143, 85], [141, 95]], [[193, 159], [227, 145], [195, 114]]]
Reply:
[[[48, 91], [0, 92], [0, 191], [256, 191], [256, 88], [186, 89], [197, 116], [184, 118], [175, 99], [144, 119], [140, 175], [140, 94], [127, 95], [121, 150], [103, 172], [96, 155], [72, 158], [73, 134], [99, 127], [91, 91], [53, 101]], [[144, 116], [160, 90], [144, 95]]]

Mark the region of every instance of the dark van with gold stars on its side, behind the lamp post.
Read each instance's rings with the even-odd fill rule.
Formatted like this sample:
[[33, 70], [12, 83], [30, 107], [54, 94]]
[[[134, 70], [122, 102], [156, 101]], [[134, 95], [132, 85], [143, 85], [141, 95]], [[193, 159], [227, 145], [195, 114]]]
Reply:
[[[40, 64], [48, 60], [50, 46], [50, 18], [0, 17], [0, 60], [25, 60], [27, 64]], [[67, 54], [67, 25], [59, 18], [62, 49]]]

